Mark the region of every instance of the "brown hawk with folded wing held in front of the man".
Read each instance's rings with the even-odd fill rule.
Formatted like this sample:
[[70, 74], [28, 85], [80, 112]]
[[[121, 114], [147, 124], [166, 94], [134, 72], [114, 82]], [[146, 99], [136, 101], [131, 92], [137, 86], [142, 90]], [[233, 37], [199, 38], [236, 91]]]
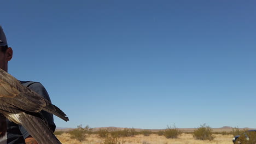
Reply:
[[[48, 127], [40, 111], [46, 111], [68, 121], [66, 114], [48, 100], [40, 97], [20, 81], [0, 69], [0, 119], [8, 118], [22, 125], [38, 143], [61, 143]], [[5, 125], [0, 125], [0, 136], [6, 132]]]

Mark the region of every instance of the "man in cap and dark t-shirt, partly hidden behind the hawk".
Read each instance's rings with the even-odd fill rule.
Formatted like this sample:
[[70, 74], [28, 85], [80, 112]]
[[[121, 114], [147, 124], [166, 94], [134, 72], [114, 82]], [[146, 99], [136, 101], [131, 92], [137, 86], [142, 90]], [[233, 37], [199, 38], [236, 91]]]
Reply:
[[[11, 60], [12, 57], [13, 50], [11, 49], [11, 47], [8, 47], [7, 39], [5, 37], [2, 27], [0, 26], [0, 68], [8, 71], [8, 62]], [[49, 95], [41, 83], [33, 81], [20, 82], [22, 83], [22, 85], [27, 86], [28, 88], [32, 89], [32, 91], [38, 93], [41, 97], [50, 101]], [[46, 123], [48, 123], [50, 129], [54, 132], [56, 126], [54, 124], [53, 115], [45, 111], [41, 111], [41, 113], [46, 119]], [[3, 121], [3, 119], [1, 120], [2, 121], [0, 122], [2, 124], [0, 124], [0, 127], [2, 128], [5, 126], [5, 121]], [[5, 133], [3, 139], [0, 140], [0, 144], [38, 144], [37, 141], [34, 140], [33, 137], [21, 125], [10, 122], [8, 119], [6, 119], [6, 125], [7, 133]]]

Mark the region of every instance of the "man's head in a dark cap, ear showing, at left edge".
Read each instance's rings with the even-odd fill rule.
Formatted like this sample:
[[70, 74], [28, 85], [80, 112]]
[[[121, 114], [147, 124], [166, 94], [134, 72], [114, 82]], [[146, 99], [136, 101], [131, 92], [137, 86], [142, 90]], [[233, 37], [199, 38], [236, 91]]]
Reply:
[[0, 26], [0, 68], [7, 71], [8, 62], [13, 57], [13, 50], [8, 47], [3, 28]]

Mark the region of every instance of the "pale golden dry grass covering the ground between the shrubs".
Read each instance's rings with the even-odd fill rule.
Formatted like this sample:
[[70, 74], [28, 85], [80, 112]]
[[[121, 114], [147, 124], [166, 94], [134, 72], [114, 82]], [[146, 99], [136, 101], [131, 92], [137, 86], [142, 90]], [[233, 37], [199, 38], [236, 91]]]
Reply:
[[[177, 139], [166, 139], [165, 136], [152, 134], [150, 136], [136, 135], [133, 137], [120, 137], [125, 144], [232, 144], [232, 135], [214, 135], [216, 138], [212, 141], [195, 140], [192, 134], [181, 134]], [[57, 138], [63, 144], [102, 144], [103, 139], [98, 135], [88, 135], [86, 140], [79, 142], [72, 140], [67, 133], [57, 135]]]

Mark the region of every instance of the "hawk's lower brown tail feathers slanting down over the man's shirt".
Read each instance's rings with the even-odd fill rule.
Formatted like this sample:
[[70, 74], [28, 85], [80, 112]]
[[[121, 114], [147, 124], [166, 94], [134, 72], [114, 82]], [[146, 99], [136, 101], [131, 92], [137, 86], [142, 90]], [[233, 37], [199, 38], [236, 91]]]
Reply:
[[21, 125], [38, 143], [61, 144], [41, 118], [20, 113], [19, 119]]

